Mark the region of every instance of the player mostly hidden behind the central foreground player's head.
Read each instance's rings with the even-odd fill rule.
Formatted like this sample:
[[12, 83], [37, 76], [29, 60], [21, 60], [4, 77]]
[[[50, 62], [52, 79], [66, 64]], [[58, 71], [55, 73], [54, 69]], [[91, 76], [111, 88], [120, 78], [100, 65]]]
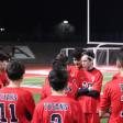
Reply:
[[[53, 69], [54, 70], [58, 70], [58, 69], [65, 69], [66, 70], [67, 69], [67, 59], [65, 56], [63, 56], [63, 54], [58, 54], [58, 56], [54, 59]], [[66, 96], [75, 99], [77, 90], [78, 90], [78, 87], [76, 85], [75, 79], [72, 79], [69, 76], [68, 85], [64, 90]], [[46, 78], [46, 80], [45, 80], [45, 85], [42, 88], [41, 94], [42, 94], [41, 99], [44, 99], [44, 98], [52, 94], [52, 88], [49, 86], [48, 78]]]

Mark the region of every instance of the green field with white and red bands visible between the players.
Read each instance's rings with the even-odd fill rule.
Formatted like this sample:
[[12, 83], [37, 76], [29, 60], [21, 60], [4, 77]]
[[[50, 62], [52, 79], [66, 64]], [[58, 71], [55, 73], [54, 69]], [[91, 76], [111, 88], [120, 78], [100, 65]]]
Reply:
[[[115, 72], [109, 72], [109, 71], [103, 72], [102, 91], [103, 91], [103, 86], [105, 85], [105, 82], [111, 80], [111, 78], [114, 74]], [[45, 77], [43, 77], [43, 76], [38, 76], [38, 77], [30, 76], [27, 78], [25, 77], [24, 81], [22, 83], [22, 86], [24, 86], [24, 87], [30, 87], [30, 90], [33, 92], [35, 103], [37, 103], [41, 100], [40, 90], [41, 90], [42, 86], [44, 85], [44, 80], [45, 80]], [[38, 89], [38, 91], [33, 91], [33, 88]], [[107, 123], [107, 119], [103, 119], [101, 121], [101, 123]]]

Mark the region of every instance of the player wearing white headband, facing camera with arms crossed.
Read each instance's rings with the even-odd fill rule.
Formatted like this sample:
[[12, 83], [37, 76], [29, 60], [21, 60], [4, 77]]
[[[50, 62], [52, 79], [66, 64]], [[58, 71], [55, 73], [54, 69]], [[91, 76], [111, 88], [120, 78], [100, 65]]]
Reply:
[[86, 123], [100, 123], [98, 104], [103, 76], [93, 67], [94, 54], [85, 52], [81, 57], [82, 70], [78, 72], [79, 91], [78, 101], [81, 104]]

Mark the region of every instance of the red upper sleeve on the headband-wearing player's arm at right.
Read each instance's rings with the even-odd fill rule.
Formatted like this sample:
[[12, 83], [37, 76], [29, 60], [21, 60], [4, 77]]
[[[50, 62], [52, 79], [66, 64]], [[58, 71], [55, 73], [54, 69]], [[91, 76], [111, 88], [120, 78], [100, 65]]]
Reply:
[[101, 72], [97, 72], [94, 78], [96, 79], [94, 79], [94, 83], [93, 83], [92, 89], [100, 92], [101, 91], [101, 87], [102, 87], [103, 76], [102, 76]]

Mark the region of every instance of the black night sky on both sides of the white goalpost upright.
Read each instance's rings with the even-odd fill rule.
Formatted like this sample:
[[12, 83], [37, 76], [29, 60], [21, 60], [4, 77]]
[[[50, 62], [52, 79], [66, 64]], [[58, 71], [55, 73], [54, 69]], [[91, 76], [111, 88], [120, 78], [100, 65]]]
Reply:
[[[76, 29], [76, 35], [85, 38], [87, 36], [87, 0], [4, 0], [0, 2], [0, 26], [10, 34], [49, 35], [58, 23], [68, 20]], [[90, 0], [91, 40], [103, 37], [109, 40], [107, 35], [114, 35], [112, 38], [122, 42], [122, 12], [123, 0]]]

